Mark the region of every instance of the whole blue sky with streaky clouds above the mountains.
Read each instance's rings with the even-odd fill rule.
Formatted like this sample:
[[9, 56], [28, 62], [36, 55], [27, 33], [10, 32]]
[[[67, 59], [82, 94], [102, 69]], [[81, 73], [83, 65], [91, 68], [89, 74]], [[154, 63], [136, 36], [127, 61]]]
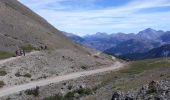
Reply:
[[78, 34], [170, 30], [170, 0], [20, 0], [57, 29]]

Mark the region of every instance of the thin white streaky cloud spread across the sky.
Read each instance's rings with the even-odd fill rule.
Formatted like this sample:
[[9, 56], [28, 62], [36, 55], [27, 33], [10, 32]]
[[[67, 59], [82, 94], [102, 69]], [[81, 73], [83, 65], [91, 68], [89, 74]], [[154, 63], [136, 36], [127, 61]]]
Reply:
[[[124, 6], [93, 10], [69, 10], [62, 1], [71, 0], [22, 0], [60, 30], [82, 34], [97, 31], [115, 32], [126, 30], [135, 32], [143, 28], [168, 28], [170, 12], [139, 13], [141, 9], [170, 6], [169, 0], [134, 0]], [[76, 2], [77, 0], [73, 0]], [[87, 0], [92, 3], [95, 0]], [[48, 9], [48, 4], [55, 3], [55, 8]], [[50, 7], [49, 7], [50, 8]], [[59, 10], [65, 9], [65, 10]], [[138, 12], [138, 13], [137, 13]], [[113, 30], [113, 31], [112, 31]], [[139, 30], [138, 30], [139, 31]]]

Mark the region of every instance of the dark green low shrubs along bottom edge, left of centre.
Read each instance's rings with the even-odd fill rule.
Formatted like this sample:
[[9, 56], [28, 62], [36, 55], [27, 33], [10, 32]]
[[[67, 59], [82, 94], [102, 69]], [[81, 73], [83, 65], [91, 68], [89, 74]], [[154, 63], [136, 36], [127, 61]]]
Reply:
[[[93, 93], [93, 91], [91, 89], [80, 88], [80, 89], [74, 90], [72, 92], [68, 92], [64, 96], [57, 94], [55, 96], [44, 98], [44, 100], [73, 100], [74, 98], [80, 98], [82, 96], [90, 95], [92, 93]], [[75, 94], [78, 94], [78, 96], [75, 97]]]

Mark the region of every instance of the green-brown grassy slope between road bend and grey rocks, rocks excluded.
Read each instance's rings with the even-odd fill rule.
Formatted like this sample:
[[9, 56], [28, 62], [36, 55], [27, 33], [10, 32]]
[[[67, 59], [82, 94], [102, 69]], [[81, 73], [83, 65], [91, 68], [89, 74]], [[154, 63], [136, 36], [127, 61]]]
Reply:
[[137, 89], [152, 80], [170, 79], [170, 59], [149, 59], [130, 62], [120, 71], [106, 75], [100, 87], [112, 84], [113, 90]]

